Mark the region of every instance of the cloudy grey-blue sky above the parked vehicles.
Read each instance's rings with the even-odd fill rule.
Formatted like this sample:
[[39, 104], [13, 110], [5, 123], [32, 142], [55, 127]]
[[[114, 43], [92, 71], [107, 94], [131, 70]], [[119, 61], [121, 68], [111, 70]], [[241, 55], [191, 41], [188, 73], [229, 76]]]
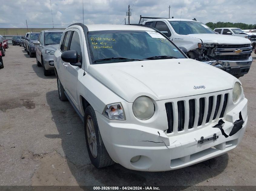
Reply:
[[[52, 4], [52, 14], [51, 14]], [[0, 28], [67, 27], [81, 22], [82, 0], [0, 0]], [[241, 22], [255, 24], [256, 0], [84, 0], [85, 24], [124, 24], [131, 6], [130, 23], [145, 17], [193, 19], [207, 22]], [[181, 15], [182, 7], [182, 15]], [[47, 25], [48, 24], [48, 25]]]

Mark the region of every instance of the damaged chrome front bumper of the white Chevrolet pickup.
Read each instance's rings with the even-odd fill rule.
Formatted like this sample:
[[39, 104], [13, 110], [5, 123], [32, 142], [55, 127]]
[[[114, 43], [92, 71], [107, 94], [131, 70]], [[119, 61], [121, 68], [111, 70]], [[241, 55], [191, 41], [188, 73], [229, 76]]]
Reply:
[[231, 75], [241, 77], [249, 72], [252, 63], [252, 56], [246, 60], [231, 61], [231, 60], [208, 60], [202, 61], [206, 64], [220, 68]]

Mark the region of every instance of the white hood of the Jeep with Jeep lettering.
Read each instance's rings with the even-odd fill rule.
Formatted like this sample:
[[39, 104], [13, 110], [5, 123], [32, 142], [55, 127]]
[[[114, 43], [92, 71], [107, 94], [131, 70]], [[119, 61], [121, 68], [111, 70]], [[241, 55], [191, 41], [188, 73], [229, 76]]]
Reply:
[[95, 64], [89, 65], [87, 72], [130, 103], [143, 95], [163, 100], [227, 90], [238, 81], [227, 72], [192, 59]]

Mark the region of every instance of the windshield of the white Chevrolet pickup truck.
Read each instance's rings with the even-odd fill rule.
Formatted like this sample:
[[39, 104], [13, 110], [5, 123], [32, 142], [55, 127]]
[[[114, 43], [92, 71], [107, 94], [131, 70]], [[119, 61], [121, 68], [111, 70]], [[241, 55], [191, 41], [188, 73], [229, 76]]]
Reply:
[[178, 34], [216, 34], [205, 24], [197, 21], [169, 21]]

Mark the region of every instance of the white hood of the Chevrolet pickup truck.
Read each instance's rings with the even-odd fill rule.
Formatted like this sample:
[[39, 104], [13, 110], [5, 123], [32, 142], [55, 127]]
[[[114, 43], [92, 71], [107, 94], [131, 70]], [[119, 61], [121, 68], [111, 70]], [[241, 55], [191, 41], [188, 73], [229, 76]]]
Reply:
[[203, 43], [213, 44], [251, 44], [251, 41], [246, 38], [235, 37], [224, 34], [188, 34], [181, 35], [200, 39]]

